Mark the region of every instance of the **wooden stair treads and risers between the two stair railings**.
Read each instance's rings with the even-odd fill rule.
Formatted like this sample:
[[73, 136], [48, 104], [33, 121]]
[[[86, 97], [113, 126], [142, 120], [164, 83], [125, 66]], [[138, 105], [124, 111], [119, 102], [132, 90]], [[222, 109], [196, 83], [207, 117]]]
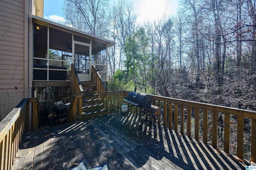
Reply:
[[84, 89], [82, 98], [82, 119], [107, 114], [105, 104], [94, 81], [81, 82]]

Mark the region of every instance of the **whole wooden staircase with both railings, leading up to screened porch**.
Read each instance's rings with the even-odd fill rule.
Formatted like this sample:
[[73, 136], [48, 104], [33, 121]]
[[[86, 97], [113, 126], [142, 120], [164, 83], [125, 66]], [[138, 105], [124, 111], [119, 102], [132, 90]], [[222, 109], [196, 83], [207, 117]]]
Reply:
[[108, 89], [94, 65], [92, 65], [92, 81], [80, 82], [73, 63], [70, 78], [73, 97], [67, 112], [68, 122], [108, 113], [108, 107], [105, 107]]

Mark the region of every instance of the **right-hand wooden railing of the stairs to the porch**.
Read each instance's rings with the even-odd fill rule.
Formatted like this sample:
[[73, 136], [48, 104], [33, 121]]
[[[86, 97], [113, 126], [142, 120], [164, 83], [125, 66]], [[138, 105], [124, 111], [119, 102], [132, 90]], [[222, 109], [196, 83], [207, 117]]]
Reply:
[[96, 69], [95, 65], [92, 65], [92, 81], [94, 81], [96, 89], [98, 90], [98, 93], [102, 98], [102, 103], [106, 107], [106, 93], [108, 91], [108, 87], [102, 80], [100, 73]]

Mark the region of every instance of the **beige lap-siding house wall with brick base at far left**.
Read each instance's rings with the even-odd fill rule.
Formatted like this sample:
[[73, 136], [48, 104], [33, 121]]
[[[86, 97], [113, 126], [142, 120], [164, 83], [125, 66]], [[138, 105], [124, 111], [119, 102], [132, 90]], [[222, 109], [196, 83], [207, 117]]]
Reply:
[[[25, 95], [25, 0], [0, 0], [0, 116], [1, 120]], [[28, 26], [26, 26], [28, 28]], [[27, 89], [26, 89], [27, 91]]]

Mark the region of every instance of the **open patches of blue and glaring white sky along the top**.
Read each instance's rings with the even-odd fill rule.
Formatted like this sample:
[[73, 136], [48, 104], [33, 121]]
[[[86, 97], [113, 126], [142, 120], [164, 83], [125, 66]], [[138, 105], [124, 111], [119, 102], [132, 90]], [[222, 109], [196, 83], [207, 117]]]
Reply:
[[[110, 0], [113, 3], [114, 0]], [[116, 0], [118, 1], [118, 0]], [[137, 22], [157, 20], [164, 14], [175, 14], [178, 8], [178, 0], [127, 0], [134, 5], [134, 12], [138, 15]], [[44, 0], [44, 18], [54, 22], [63, 22], [64, 0]], [[157, 3], [156, 3], [157, 2]]]

